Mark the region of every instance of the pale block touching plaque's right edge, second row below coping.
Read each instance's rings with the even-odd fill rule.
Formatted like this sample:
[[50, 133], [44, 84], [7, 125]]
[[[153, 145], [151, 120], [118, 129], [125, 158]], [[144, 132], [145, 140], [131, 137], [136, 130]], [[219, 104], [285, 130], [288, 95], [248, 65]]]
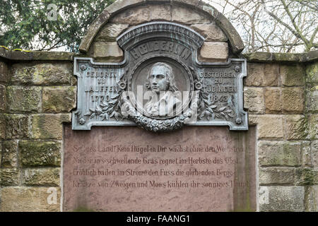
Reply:
[[244, 88], [244, 107], [253, 114], [264, 114], [263, 88]]

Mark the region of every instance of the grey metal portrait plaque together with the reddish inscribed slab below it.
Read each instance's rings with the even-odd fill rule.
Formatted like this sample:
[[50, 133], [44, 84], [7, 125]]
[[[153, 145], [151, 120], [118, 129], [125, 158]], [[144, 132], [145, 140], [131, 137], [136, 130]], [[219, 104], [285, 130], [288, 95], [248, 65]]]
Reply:
[[256, 210], [255, 134], [242, 94], [247, 63], [199, 61], [204, 40], [181, 23], [152, 21], [116, 37], [120, 62], [74, 58], [78, 102], [64, 130], [64, 210]]

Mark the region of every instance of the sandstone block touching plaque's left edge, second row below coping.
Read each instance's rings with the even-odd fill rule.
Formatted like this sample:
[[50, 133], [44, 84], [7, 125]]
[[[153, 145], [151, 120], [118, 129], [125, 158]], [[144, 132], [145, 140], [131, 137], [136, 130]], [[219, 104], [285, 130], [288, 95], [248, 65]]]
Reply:
[[76, 107], [76, 86], [52, 86], [43, 88], [43, 112], [71, 112]]

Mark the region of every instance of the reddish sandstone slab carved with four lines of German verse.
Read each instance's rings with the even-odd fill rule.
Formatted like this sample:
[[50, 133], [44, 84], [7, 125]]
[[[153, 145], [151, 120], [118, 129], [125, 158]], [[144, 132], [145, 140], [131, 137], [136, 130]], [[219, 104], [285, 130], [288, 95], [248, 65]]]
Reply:
[[255, 128], [64, 128], [64, 211], [256, 210]]

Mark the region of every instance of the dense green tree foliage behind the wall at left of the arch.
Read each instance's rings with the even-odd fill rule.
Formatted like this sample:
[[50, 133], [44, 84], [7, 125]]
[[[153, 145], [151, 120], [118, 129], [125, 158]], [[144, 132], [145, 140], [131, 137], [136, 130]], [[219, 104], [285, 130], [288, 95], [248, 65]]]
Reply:
[[[10, 49], [78, 51], [88, 26], [114, 0], [0, 0], [0, 45]], [[57, 6], [57, 20], [53, 8]]]

